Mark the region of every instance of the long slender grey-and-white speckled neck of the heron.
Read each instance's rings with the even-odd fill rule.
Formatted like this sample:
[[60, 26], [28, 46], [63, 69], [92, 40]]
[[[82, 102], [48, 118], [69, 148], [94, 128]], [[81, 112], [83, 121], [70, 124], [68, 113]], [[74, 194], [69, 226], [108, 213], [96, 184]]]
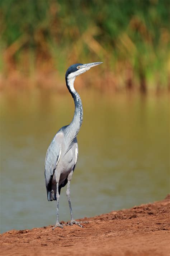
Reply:
[[[73, 81], [73, 83], [74, 83], [74, 81]], [[71, 141], [73, 141], [75, 139], [75, 137], [77, 136], [77, 134], [80, 130], [80, 126], [82, 124], [82, 116], [83, 116], [81, 98], [80, 98], [79, 94], [77, 93], [77, 91], [74, 89], [73, 83], [72, 83], [72, 87], [71, 87], [71, 85], [66, 80], [67, 88], [69, 89], [69, 91], [74, 99], [74, 104], [75, 104], [74, 117], [73, 117], [70, 125], [67, 126], [67, 134], [69, 135], [69, 139]]]

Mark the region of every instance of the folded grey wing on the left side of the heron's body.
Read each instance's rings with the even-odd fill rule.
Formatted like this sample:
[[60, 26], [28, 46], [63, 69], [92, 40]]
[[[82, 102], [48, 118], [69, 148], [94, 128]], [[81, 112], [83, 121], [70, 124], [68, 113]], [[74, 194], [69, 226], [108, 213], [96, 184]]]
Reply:
[[51, 144], [47, 149], [46, 160], [45, 160], [46, 188], [48, 188], [49, 182], [60, 160], [62, 142], [63, 142], [63, 133], [60, 131], [55, 135], [55, 137], [53, 138]]

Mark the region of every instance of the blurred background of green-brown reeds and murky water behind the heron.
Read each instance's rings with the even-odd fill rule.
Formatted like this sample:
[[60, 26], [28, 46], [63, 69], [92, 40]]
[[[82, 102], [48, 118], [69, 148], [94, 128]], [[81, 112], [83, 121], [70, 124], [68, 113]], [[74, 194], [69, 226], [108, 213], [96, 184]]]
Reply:
[[[75, 218], [160, 200], [169, 192], [169, 0], [1, 0], [1, 232], [55, 224], [44, 160], [71, 122], [74, 63], [84, 107], [71, 182]], [[70, 220], [66, 188], [60, 220]]]

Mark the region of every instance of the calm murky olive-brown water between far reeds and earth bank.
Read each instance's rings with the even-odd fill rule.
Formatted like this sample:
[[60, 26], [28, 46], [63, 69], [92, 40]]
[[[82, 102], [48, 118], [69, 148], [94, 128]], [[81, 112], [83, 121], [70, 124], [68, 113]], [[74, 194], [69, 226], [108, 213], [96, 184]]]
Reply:
[[[169, 192], [168, 96], [80, 95], [84, 121], [71, 181], [75, 218], [163, 199]], [[44, 158], [73, 113], [69, 94], [1, 95], [1, 232], [55, 224]], [[60, 220], [70, 220], [66, 187]]]

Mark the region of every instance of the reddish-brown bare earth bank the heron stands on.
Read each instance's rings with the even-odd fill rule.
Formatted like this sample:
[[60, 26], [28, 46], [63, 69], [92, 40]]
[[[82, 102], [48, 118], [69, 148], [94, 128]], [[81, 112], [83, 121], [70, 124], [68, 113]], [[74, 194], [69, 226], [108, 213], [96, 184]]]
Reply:
[[170, 255], [170, 195], [163, 201], [85, 218], [84, 228], [52, 226], [0, 236], [1, 255]]

